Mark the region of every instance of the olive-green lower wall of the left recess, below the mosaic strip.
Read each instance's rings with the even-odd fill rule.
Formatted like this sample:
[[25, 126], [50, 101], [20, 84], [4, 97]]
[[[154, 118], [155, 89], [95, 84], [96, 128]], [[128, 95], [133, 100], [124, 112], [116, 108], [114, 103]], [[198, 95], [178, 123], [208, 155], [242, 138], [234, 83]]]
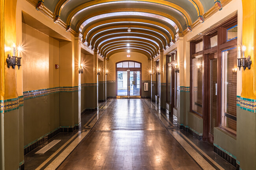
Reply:
[[60, 126], [59, 99], [53, 93], [24, 100], [24, 146]]

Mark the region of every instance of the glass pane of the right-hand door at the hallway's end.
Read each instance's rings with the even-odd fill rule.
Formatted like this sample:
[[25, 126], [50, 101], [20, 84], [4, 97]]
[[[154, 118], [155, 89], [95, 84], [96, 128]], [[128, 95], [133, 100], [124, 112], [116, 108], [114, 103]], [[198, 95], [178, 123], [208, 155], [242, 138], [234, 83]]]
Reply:
[[140, 95], [140, 72], [130, 71], [130, 95]]

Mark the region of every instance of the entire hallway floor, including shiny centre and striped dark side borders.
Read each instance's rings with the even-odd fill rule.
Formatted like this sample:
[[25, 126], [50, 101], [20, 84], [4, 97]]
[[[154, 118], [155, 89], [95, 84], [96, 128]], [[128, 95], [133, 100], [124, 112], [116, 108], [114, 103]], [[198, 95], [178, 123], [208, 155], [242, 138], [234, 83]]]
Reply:
[[177, 118], [148, 99], [109, 99], [98, 112], [81, 117], [82, 129], [59, 133], [45, 154], [25, 156], [26, 170], [234, 170], [213, 152], [177, 128]]

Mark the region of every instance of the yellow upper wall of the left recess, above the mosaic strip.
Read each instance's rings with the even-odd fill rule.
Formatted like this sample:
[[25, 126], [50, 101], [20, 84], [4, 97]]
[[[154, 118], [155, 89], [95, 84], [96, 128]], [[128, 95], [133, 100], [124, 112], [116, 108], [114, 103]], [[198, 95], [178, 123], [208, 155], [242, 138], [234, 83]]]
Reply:
[[22, 24], [23, 90], [59, 86], [59, 41]]

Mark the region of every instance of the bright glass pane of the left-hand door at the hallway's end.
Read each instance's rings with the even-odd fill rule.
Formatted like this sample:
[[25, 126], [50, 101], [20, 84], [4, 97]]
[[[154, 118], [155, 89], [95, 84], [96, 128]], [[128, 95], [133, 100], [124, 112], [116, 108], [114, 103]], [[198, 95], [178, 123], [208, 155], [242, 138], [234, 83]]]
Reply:
[[128, 71], [117, 71], [117, 95], [127, 96], [128, 95]]

